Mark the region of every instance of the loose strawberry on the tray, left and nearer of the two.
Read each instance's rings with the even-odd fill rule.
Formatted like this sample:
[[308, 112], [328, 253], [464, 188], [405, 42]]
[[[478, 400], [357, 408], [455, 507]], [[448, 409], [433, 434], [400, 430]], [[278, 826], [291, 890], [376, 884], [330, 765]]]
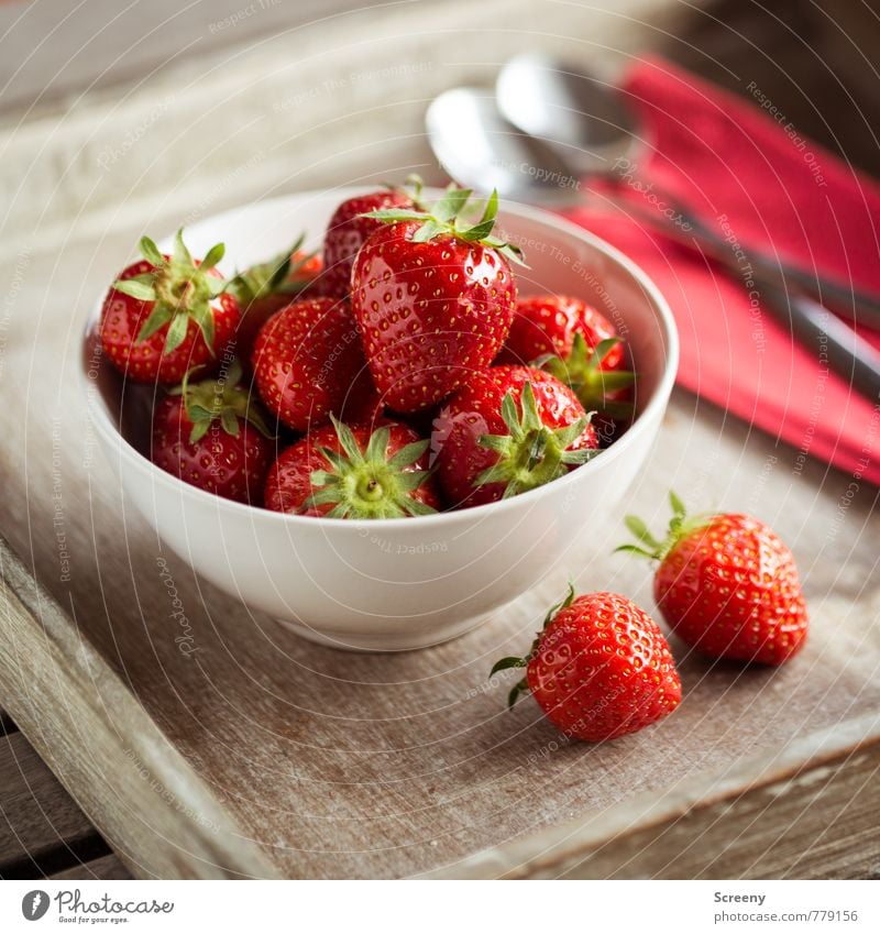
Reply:
[[525, 668], [524, 691], [565, 736], [601, 743], [662, 719], [681, 703], [681, 681], [659, 626], [616, 593], [575, 600], [571, 587], [551, 608], [526, 658], [504, 658], [492, 674]]

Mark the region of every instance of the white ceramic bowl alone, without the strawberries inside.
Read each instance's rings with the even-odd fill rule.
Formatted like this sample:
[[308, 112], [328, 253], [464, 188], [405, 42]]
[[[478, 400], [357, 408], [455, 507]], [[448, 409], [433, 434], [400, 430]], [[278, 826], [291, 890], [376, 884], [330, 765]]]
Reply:
[[[195, 255], [224, 241], [221, 267], [275, 255], [308, 231], [320, 244], [337, 205], [354, 189], [305, 193], [250, 205], [186, 231]], [[626, 337], [639, 373], [638, 417], [607, 451], [565, 477], [502, 503], [373, 523], [287, 516], [221, 499], [158, 470], [125, 438], [147, 410], [121, 403], [121, 377], [94, 359], [87, 328], [84, 373], [95, 427], [127, 496], [163, 541], [204, 578], [338, 648], [414, 649], [473, 628], [547, 575], [581, 570], [580, 546], [644, 466], [669, 399], [678, 337], [657, 287], [629, 260], [581, 228], [519, 205], [501, 224], [530, 268], [521, 295], [556, 292], [593, 300]], [[140, 427], [139, 427], [140, 420]], [[148, 430], [148, 429], [147, 429]], [[123, 437], [124, 436], [124, 437]]]

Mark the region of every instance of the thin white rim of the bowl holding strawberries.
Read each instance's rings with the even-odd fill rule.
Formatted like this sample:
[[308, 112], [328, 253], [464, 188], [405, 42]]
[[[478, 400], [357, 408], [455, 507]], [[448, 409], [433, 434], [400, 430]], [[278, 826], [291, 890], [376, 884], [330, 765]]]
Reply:
[[[199, 219], [198, 224], [194, 226], [201, 227], [216, 221], [221, 221], [224, 218], [228, 219], [230, 217], [234, 217], [241, 211], [248, 210], [249, 208], [256, 206], [265, 207], [272, 204], [280, 205], [283, 202], [290, 202], [296, 200], [317, 199], [326, 197], [330, 194], [332, 194], [333, 197], [340, 198], [340, 200], [345, 200], [346, 198], [354, 197], [355, 195], [361, 195], [364, 191], [373, 190], [373, 187], [344, 186], [340, 188], [294, 191], [288, 195], [282, 195], [274, 198], [260, 199], [256, 201], [252, 201], [248, 205], [239, 205], [238, 207], [230, 208], [226, 211], [220, 211], [216, 215], [201, 218]], [[543, 486], [538, 486], [535, 490], [529, 490], [526, 493], [520, 493], [517, 496], [512, 496], [509, 499], [499, 499], [494, 503], [485, 503], [480, 506], [470, 506], [464, 509], [450, 509], [446, 512], [438, 512], [428, 516], [409, 516], [396, 519], [361, 520], [328, 518], [326, 516], [298, 516], [292, 513], [278, 513], [273, 509], [266, 509], [260, 506], [252, 506], [249, 503], [238, 503], [233, 499], [226, 499], [222, 496], [217, 496], [216, 494], [209, 493], [206, 490], [200, 490], [197, 486], [193, 486], [193, 484], [185, 483], [179, 477], [174, 476], [174, 474], [167, 473], [166, 471], [163, 471], [157, 468], [148, 458], [146, 458], [133, 444], [131, 444], [131, 442], [128, 441], [128, 439], [125, 439], [125, 437], [116, 427], [113, 420], [110, 418], [107, 407], [103, 405], [102, 402], [99, 402], [99, 394], [97, 392], [90, 391], [94, 389], [94, 381], [88, 375], [88, 365], [81, 363], [79, 367], [79, 374], [80, 380], [82, 381], [85, 386], [87, 408], [91, 417], [92, 424], [96, 426], [97, 430], [103, 436], [105, 440], [109, 442], [112, 448], [116, 448], [119, 451], [120, 457], [124, 455], [129, 459], [129, 461], [133, 460], [136, 464], [145, 466], [147, 471], [154, 475], [155, 481], [162, 483], [165, 486], [176, 488], [180, 493], [180, 495], [190, 495], [196, 498], [196, 502], [200, 501], [206, 505], [212, 503], [219, 509], [228, 509], [231, 510], [233, 514], [239, 513], [242, 516], [251, 516], [254, 520], [256, 519], [256, 517], [260, 517], [262, 520], [265, 521], [286, 524], [292, 527], [304, 526], [305, 528], [312, 529], [312, 531], [318, 530], [322, 527], [336, 529], [350, 528], [352, 532], [362, 534], [361, 529], [366, 523], [369, 523], [371, 526], [375, 523], [381, 523], [382, 528], [388, 529], [389, 532], [398, 529], [408, 529], [410, 531], [415, 531], [415, 529], [417, 528], [427, 528], [429, 526], [432, 528], [437, 528], [441, 525], [461, 524], [471, 519], [473, 521], [480, 521], [483, 518], [487, 517], [490, 514], [501, 515], [504, 512], [512, 512], [518, 508], [525, 509], [528, 508], [529, 504], [536, 502], [541, 496], [547, 496], [549, 492], [553, 490], [556, 490], [559, 494], [563, 494], [563, 492], [571, 484], [580, 483], [586, 480], [592, 472], [595, 472], [598, 469], [596, 464], [608, 464], [609, 461], [624, 457], [625, 453], [638, 442], [639, 436], [642, 435], [646, 430], [648, 430], [647, 426], [652, 420], [651, 416], [659, 415], [658, 410], [662, 410], [667, 406], [669, 397], [672, 393], [672, 387], [675, 382], [675, 375], [678, 373], [679, 365], [680, 342], [678, 327], [675, 325], [672, 310], [669, 307], [669, 303], [663, 297], [658, 286], [638, 264], [636, 264], [616, 246], [613, 246], [610, 243], [603, 240], [601, 237], [596, 237], [596, 234], [594, 234], [592, 231], [580, 227], [573, 221], [570, 221], [566, 218], [561, 217], [552, 211], [543, 210], [542, 208], [537, 208], [531, 205], [526, 205], [519, 201], [505, 200], [502, 202], [499, 210], [499, 213], [504, 212], [510, 215], [518, 215], [520, 217], [537, 221], [539, 223], [550, 224], [562, 233], [566, 233], [570, 237], [575, 238], [576, 240], [586, 242], [598, 253], [603, 254], [610, 262], [615, 263], [617, 266], [623, 268], [623, 271], [627, 273], [629, 277], [640, 286], [642, 292], [650, 300], [651, 306], [653, 307], [654, 314], [657, 316], [658, 322], [661, 326], [663, 344], [666, 348], [666, 361], [660, 382], [657, 388], [654, 389], [651, 398], [648, 400], [648, 404], [638, 414], [632, 425], [627, 429], [627, 431], [619, 440], [615, 441], [609, 448], [606, 448], [600, 457], [594, 458], [593, 460], [590, 460], [584, 464], [581, 464], [576, 470], [569, 471], [565, 476], [558, 477], [551, 483], [544, 484]], [[166, 238], [162, 238], [162, 240], [165, 239]], [[105, 297], [106, 292], [102, 292], [98, 297], [96, 304], [89, 311], [82, 336], [84, 345], [89, 341], [90, 338], [94, 337], [94, 330], [100, 319], [100, 312]]]

